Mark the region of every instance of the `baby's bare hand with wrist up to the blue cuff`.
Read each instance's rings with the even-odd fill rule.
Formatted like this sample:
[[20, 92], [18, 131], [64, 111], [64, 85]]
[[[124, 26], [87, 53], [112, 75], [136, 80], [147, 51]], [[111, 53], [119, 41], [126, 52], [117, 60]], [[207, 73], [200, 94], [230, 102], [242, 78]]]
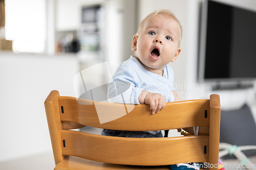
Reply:
[[165, 107], [165, 99], [159, 93], [151, 93], [146, 90], [142, 90], [139, 95], [139, 103], [150, 105], [152, 114], [155, 114]]

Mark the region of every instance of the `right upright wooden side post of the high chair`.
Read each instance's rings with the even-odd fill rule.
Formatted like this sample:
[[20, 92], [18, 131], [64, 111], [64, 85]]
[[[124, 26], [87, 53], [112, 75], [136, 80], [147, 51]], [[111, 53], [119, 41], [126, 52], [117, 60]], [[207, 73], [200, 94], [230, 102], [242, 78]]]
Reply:
[[220, 143], [220, 96], [210, 95], [210, 122], [209, 122], [209, 170], [218, 169]]

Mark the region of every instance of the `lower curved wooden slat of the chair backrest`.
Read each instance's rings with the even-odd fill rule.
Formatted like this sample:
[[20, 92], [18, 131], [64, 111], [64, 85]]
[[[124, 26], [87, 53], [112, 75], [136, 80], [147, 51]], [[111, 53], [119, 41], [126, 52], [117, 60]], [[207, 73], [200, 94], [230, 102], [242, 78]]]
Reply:
[[[62, 154], [128, 165], [208, 162], [209, 136], [126, 138], [62, 130]], [[207, 153], [204, 154], [204, 146]]]

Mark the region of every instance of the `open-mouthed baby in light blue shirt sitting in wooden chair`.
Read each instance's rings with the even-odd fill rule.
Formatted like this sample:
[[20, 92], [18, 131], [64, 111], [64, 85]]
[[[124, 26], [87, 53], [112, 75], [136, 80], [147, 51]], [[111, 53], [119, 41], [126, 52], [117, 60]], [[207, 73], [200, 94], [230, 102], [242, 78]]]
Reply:
[[[167, 64], [175, 62], [181, 49], [182, 28], [168, 10], [148, 15], [133, 37], [134, 56], [116, 70], [108, 88], [111, 103], [148, 104], [152, 114], [166, 102], [180, 101], [174, 89], [174, 72]], [[121, 94], [121, 98], [117, 97]], [[120, 96], [120, 95], [119, 95]], [[102, 131], [102, 135], [119, 137], [162, 137], [161, 131]]]

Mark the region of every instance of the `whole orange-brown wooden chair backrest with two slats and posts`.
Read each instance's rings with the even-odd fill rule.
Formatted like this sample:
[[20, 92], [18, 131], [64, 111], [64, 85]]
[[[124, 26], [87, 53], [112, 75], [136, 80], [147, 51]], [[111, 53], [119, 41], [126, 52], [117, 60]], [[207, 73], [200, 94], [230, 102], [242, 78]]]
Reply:
[[[59, 96], [58, 91], [51, 91], [45, 101], [45, 108], [55, 164], [67, 155], [72, 155], [99, 162], [128, 165], [209, 162], [212, 165], [217, 164], [209, 167], [210, 169], [218, 169], [219, 95], [210, 95], [210, 100], [166, 103], [165, 108], [157, 114], [151, 114], [148, 105], [136, 105], [130, 113], [103, 124], [100, 124], [95, 105], [97, 108], [100, 106], [106, 113], [117, 108], [114, 114], [118, 114], [118, 108], [123, 106], [87, 100], [83, 100], [81, 104], [76, 98]], [[112, 109], [108, 109], [110, 107]], [[129, 131], [208, 127], [209, 135], [125, 138], [70, 130], [82, 126]]]

